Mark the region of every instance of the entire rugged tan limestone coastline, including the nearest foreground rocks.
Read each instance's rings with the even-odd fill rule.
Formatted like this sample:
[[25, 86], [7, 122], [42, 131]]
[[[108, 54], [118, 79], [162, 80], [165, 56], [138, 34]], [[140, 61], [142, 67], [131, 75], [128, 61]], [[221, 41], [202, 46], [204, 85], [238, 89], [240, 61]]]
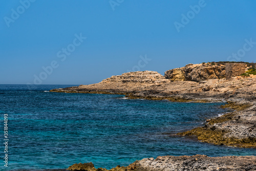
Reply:
[[[245, 62], [235, 63], [233, 66], [212, 62], [190, 64], [168, 70], [164, 76], [154, 71], [130, 72], [112, 76], [99, 83], [54, 89], [51, 92], [123, 94], [131, 99], [167, 99], [176, 102], [227, 102], [222, 108], [231, 108], [232, 112], [208, 119], [203, 127], [195, 127], [177, 135], [196, 136], [202, 142], [216, 145], [256, 148], [256, 77], [239, 76], [251, 67], [250, 63]], [[236, 75], [232, 75], [234, 73]], [[189, 163], [185, 164], [186, 167], [184, 160]], [[245, 164], [246, 162], [250, 164]], [[255, 170], [255, 163], [255, 156], [164, 156], [155, 160], [151, 158], [136, 161], [132, 164], [136, 166], [133, 169], [127, 166], [112, 170]], [[72, 167], [69, 169], [72, 170]], [[96, 169], [92, 167], [84, 170]]]

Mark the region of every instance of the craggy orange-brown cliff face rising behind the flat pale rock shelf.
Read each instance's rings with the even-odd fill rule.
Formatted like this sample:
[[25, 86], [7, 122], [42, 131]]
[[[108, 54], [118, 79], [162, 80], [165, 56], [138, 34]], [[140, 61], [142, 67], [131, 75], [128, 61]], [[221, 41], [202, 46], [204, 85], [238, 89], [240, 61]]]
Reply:
[[225, 65], [216, 63], [188, 64], [185, 67], [168, 70], [165, 78], [172, 81], [203, 81], [208, 79], [221, 79], [226, 77]]

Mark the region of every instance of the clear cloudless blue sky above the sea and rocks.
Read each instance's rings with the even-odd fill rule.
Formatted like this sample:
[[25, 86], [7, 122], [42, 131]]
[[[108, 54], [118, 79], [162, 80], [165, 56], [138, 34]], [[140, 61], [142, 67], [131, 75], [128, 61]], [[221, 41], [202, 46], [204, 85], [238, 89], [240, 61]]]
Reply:
[[0, 1], [0, 84], [90, 84], [128, 71], [256, 61], [253, 0]]

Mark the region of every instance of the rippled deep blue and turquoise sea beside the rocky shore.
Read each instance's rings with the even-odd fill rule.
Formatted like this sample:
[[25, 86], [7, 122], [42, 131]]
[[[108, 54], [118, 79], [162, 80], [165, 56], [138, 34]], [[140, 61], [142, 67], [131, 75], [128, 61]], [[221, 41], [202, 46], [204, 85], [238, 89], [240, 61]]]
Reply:
[[[4, 145], [1, 170], [61, 169], [74, 163], [95, 167], [129, 165], [164, 155], [255, 155], [255, 149], [217, 146], [175, 133], [203, 125], [227, 112], [223, 103], [131, 100], [123, 95], [47, 92], [71, 85], [0, 84], [1, 130], [9, 119], [8, 168]], [[1, 132], [2, 142], [4, 133]]]

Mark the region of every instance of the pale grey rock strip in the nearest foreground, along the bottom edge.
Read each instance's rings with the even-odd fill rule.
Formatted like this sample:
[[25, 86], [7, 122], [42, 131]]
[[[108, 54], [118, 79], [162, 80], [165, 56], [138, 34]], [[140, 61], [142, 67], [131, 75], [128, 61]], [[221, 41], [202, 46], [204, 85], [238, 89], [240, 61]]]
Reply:
[[[96, 169], [92, 163], [74, 164], [69, 170], [107, 171], [105, 168]], [[146, 158], [135, 161], [127, 167], [117, 166], [110, 171], [171, 171], [171, 170], [255, 170], [255, 156], [227, 156], [227, 157], [207, 157], [205, 155], [196, 156], [160, 156], [156, 159]]]

